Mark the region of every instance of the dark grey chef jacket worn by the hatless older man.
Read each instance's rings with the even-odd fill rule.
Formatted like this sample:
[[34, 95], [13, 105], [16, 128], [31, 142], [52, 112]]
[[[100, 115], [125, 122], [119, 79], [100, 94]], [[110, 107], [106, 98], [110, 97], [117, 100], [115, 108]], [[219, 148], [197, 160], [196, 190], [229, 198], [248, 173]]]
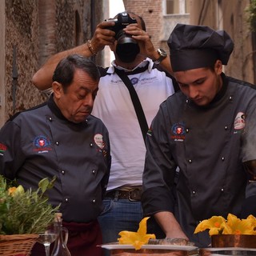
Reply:
[[94, 116], [75, 124], [51, 97], [47, 104], [16, 115], [0, 130], [0, 174], [38, 188], [42, 178], [57, 180], [50, 203], [61, 203], [65, 222], [90, 222], [102, 211], [110, 174], [106, 126]]

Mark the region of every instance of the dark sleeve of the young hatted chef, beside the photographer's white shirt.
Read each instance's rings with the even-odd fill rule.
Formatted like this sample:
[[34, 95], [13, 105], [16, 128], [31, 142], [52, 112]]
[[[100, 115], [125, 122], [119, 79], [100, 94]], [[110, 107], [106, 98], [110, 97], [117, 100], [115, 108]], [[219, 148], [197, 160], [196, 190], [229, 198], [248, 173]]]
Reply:
[[145, 215], [160, 211], [174, 212], [176, 165], [169, 145], [168, 120], [164, 104], [146, 135], [146, 161], [142, 178], [142, 207]]

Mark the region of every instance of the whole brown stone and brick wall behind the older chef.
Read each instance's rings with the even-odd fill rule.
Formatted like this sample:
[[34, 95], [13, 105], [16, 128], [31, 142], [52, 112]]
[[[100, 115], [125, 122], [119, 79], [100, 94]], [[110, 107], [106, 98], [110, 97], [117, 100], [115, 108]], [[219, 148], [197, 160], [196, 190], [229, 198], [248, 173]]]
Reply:
[[[0, 5], [6, 16], [2, 126], [14, 113], [46, 101], [31, 82], [34, 73], [50, 55], [91, 38], [103, 8], [94, 0], [5, 0]], [[100, 64], [101, 54], [97, 58]]]

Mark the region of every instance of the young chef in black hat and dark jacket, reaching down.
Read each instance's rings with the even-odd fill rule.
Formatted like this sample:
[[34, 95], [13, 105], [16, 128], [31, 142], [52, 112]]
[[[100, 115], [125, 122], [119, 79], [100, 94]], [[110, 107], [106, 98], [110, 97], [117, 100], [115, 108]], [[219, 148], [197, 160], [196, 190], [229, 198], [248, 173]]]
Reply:
[[146, 136], [142, 206], [167, 238], [205, 247], [209, 230], [194, 234], [200, 221], [256, 216], [256, 90], [223, 74], [234, 48], [225, 31], [178, 24], [168, 45], [181, 90]]

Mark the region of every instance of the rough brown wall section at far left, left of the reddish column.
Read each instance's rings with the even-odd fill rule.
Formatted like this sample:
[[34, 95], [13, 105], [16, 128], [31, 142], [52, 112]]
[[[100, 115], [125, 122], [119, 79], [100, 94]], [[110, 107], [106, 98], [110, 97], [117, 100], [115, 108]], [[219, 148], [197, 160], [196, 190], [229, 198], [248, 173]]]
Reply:
[[37, 13], [38, 1], [6, 0], [5, 119], [44, 99], [31, 83], [38, 66]]

